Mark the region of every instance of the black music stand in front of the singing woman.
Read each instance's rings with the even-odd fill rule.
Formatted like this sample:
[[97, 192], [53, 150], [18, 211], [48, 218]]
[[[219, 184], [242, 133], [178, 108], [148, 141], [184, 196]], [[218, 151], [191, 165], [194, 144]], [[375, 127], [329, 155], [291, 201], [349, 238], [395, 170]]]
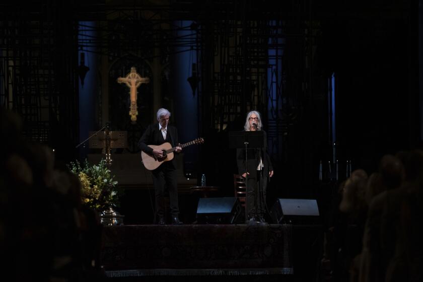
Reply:
[[[262, 149], [264, 147], [264, 132], [263, 131], [230, 131], [229, 132], [229, 148], [244, 149], [245, 150], [245, 170], [248, 168], [247, 150], [248, 149]], [[257, 160], [254, 158], [255, 167], [257, 167]], [[258, 205], [258, 187], [255, 185], [255, 216], [257, 217]], [[248, 173], [245, 175], [245, 208], [248, 206]], [[245, 221], [247, 221], [248, 213], [245, 212]]]

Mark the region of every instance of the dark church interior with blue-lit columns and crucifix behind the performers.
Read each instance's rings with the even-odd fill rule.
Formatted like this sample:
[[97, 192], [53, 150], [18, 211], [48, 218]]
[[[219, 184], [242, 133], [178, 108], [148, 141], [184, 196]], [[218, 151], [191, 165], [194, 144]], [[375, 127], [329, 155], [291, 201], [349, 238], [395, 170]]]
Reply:
[[[125, 225], [153, 220], [153, 182], [138, 140], [159, 108], [171, 112], [180, 143], [204, 141], [177, 156], [185, 223], [195, 221], [192, 187], [201, 175], [219, 188], [213, 195], [234, 195], [231, 132], [257, 110], [274, 168], [267, 204], [317, 199], [326, 231], [351, 170], [370, 175], [384, 155], [421, 148], [420, 6], [7, 1], [0, 4], [0, 104], [21, 117], [25, 139], [52, 148], [62, 165], [98, 162], [107, 152], [93, 134], [122, 132], [122, 144], [109, 149]], [[135, 87], [125, 81], [132, 71]], [[332, 277], [343, 277], [334, 268]]]

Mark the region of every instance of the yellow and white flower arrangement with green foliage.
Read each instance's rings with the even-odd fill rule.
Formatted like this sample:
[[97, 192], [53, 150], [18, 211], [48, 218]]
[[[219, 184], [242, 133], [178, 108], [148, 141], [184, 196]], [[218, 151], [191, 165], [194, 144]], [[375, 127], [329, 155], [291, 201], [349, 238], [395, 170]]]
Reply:
[[118, 205], [117, 181], [113, 181], [113, 176], [103, 159], [98, 165], [90, 165], [86, 159], [83, 166], [77, 160], [70, 162], [68, 167], [81, 181], [83, 204], [96, 210]]

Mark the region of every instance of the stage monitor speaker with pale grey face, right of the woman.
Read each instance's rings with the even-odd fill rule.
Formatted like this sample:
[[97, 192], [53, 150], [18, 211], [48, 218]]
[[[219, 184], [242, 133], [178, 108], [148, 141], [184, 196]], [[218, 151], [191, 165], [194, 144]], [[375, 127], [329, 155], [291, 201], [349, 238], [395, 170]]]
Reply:
[[270, 210], [273, 223], [318, 223], [319, 208], [315, 199], [279, 198]]

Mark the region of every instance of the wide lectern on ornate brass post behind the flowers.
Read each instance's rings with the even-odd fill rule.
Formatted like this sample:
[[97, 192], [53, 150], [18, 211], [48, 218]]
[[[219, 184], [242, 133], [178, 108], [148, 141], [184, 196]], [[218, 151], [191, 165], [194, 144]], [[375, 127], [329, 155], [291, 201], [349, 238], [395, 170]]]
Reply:
[[92, 138], [89, 140], [88, 148], [103, 149], [106, 155], [106, 165], [109, 167], [112, 165], [110, 149], [127, 147], [127, 131], [109, 131], [106, 128], [105, 131], [90, 131], [89, 134], [92, 134]]

